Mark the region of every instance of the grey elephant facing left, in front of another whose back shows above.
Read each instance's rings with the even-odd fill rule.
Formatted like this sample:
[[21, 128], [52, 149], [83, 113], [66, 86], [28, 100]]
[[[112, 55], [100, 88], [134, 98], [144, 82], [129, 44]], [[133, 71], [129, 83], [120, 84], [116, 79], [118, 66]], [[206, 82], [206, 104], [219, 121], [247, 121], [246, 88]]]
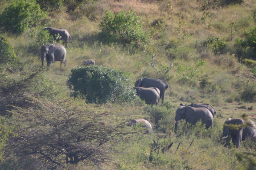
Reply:
[[178, 121], [185, 119], [186, 122], [195, 125], [196, 122], [202, 120], [202, 123], [206, 124], [206, 128], [213, 127], [213, 116], [210, 110], [205, 107], [190, 107], [185, 106], [178, 108], [175, 115], [175, 130], [178, 128]]

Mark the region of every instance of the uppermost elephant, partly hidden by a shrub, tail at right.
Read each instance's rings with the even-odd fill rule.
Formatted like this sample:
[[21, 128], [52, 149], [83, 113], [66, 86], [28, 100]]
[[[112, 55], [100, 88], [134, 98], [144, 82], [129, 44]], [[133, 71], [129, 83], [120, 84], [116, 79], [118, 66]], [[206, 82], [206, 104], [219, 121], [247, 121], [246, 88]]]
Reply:
[[[54, 27], [45, 27], [43, 30], [48, 30], [49, 34], [52, 35], [54, 37], [54, 39], [56, 39], [56, 35], [60, 34], [61, 39], [63, 40], [63, 43], [65, 44], [65, 47], [68, 47], [68, 40], [72, 38], [70, 37], [70, 34], [68, 33], [68, 31], [66, 29], [63, 28], [54, 28]], [[60, 39], [57, 39], [57, 41], [59, 41]], [[73, 42], [73, 40], [72, 40]], [[71, 42], [71, 43], [72, 43]]]

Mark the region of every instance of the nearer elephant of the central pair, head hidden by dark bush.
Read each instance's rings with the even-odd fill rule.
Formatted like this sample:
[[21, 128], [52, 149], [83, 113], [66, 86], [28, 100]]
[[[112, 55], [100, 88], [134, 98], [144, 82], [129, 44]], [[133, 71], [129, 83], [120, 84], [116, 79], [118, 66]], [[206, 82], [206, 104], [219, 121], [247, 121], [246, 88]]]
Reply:
[[145, 100], [146, 104], [158, 105], [160, 98], [160, 90], [156, 87], [133, 87], [136, 90], [136, 95], [140, 97], [141, 100]]

